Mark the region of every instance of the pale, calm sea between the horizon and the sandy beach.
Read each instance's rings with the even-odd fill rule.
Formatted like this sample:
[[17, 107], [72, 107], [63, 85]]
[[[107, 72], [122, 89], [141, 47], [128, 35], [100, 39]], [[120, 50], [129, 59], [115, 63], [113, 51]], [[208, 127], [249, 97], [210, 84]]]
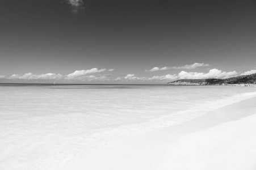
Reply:
[[0, 169], [54, 169], [256, 96], [256, 87], [0, 84]]

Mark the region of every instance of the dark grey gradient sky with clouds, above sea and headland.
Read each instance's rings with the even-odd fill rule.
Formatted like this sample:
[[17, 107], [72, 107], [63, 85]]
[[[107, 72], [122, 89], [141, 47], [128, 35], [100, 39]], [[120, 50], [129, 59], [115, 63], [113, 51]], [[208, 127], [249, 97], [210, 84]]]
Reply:
[[255, 0], [1, 0], [0, 83], [256, 73]]

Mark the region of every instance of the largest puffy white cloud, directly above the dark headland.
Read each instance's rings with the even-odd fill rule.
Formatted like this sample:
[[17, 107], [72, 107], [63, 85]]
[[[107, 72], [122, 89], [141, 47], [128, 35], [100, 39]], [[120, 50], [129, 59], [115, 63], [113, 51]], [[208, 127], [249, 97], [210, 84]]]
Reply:
[[209, 73], [197, 73], [197, 72], [190, 72], [187, 73], [186, 71], [181, 71], [178, 74], [179, 79], [207, 79], [207, 78], [229, 78], [234, 75], [237, 75], [236, 71], [221, 71], [218, 69], [211, 69]]

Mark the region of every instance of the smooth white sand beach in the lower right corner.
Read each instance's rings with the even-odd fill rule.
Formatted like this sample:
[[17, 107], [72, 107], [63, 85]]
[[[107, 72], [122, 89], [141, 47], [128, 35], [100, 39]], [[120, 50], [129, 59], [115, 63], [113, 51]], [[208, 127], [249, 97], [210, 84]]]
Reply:
[[256, 169], [256, 97], [112, 143], [60, 169]]

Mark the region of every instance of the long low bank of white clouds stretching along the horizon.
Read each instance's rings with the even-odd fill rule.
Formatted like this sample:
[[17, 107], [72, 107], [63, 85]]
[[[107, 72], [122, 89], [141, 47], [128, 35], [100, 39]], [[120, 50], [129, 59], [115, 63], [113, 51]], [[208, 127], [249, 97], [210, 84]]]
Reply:
[[[47, 73], [47, 74], [32, 74], [26, 73], [24, 75], [13, 74], [10, 76], [0, 75], [2, 80], [77, 80], [82, 82], [91, 82], [91, 81], [110, 81], [117, 80], [121, 82], [168, 82], [171, 80], [177, 79], [206, 79], [206, 78], [229, 78], [237, 75], [237, 71], [221, 71], [218, 69], [211, 69], [208, 73], [198, 73], [198, 72], [186, 72], [181, 71], [179, 74], [167, 74], [167, 75], [157, 75], [152, 77], [147, 76], [136, 76], [135, 74], [125, 74], [119, 75], [116, 79], [111, 78], [111, 74], [103, 75], [92, 75], [95, 73], [102, 73], [106, 69], [89, 69], [89, 70], [77, 70], [73, 73], [67, 75]], [[256, 70], [246, 71], [241, 75], [253, 74], [256, 73]]]

